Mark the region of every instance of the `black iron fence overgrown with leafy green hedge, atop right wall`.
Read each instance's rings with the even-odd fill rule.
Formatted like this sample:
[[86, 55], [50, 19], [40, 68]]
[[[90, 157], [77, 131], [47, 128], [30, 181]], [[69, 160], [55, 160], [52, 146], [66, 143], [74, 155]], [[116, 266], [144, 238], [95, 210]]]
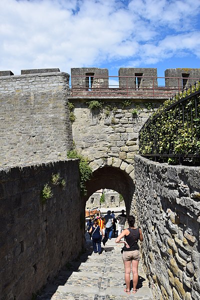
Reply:
[[[168, 100], [171, 103], [147, 121], [139, 132], [139, 153], [163, 161], [200, 161], [200, 89], [194, 84]], [[188, 95], [187, 95], [188, 94]], [[175, 102], [174, 102], [175, 101]], [[163, 157], [167, 157], [163, 159]], [[176, 161], [175, 160], [175, 161]], [[177, 161], [176, 161], [177, 162]]]

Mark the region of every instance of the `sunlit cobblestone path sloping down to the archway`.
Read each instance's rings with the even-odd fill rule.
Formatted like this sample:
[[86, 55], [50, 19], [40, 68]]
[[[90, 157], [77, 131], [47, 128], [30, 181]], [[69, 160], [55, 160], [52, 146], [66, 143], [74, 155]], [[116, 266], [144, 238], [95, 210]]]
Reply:
[[54, 283], [47, 285], [36, 300], [153, 300], [145, 274], [139, 263], [138, 291], [127, 295], [123, 289], [124, 268], [121, 244], [108, 240], [102, 253], [92, 252], [92, 242], [85, 233], [86, 252], [59, 272]]

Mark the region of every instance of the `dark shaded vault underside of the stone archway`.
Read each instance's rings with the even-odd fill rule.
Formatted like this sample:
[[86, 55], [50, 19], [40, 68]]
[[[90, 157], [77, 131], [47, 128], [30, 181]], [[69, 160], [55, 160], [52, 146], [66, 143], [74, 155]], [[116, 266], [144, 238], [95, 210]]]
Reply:
[[125, 202], [126, 213], [129, 214], [134, 183], [124, 170], [113, 166], [103, 166], [94, 170], [92, 178], [86, 183], [87, 194], [84, 196], [84, 202], [86, 203], [88, 197], [101, 188], [113, 189], [120, 193]]

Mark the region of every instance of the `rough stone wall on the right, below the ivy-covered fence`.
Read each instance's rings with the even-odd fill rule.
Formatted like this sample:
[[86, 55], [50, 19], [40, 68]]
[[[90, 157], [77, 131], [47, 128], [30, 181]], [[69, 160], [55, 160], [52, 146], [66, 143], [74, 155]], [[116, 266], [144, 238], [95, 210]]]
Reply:
[[[142, 260], [155, 299], [200, 298], [200, 167], [135, 156]], [[162, 295], [162, 296], [160, 296]]]

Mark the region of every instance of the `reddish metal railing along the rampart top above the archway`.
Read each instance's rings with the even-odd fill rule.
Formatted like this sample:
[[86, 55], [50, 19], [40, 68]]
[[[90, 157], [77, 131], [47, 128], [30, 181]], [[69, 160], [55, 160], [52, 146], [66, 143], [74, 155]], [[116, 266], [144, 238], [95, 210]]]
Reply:
[[71, 75], [70, 96], [169, 98], [198, 80], [194, 77]]

